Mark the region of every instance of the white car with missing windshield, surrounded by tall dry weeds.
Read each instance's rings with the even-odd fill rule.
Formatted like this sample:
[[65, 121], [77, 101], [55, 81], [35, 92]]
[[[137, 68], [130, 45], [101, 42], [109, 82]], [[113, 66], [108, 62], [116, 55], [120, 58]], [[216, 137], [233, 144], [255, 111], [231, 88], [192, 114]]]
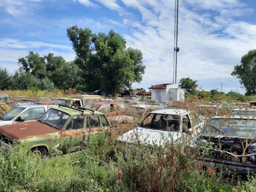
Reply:
[[138, 126], [117, 140], [127, 143], [160, 146], [166, 141], [182, 138], [184, 134], [196, 134], [202, 121], [188, 110], [163, 109], [150, 112]]

